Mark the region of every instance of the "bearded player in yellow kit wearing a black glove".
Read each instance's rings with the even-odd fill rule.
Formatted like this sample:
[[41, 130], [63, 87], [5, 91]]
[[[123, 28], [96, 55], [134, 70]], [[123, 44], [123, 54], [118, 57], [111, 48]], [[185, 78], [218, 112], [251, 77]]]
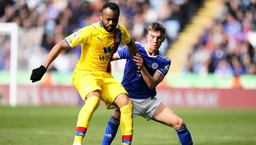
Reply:
[[78, 115], [73, 145], [82, 144], [92, 114], [99, 107], [100, 99], [105, 102], [108, 109], [120, 109], [122, 144], [131, 144], [133, 103], [124, 87], [111, 75], [110, 62], [121, 41], [126, 44], [131, 55], [136, 56], [139, 51], [126, 28], [118, 24], [119, 14], [117, 4], [104, 4], [100, 13], [101, 22], [81, 28], [64, 38], [53, 47], [43, 65], [32, 71], [32, 82], [39, 81], [60, 52], [82, 43], [81, 58], [73, 72], [73, 86], [85, 100], [85, 105]]

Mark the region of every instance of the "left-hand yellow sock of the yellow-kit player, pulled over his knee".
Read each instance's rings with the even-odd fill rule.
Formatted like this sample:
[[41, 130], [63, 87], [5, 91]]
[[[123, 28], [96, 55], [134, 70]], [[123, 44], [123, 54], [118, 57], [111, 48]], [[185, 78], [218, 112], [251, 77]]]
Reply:
[[85, 101], [85, 105], [83, 105], [78, 115], [74, 142], [82, 143], [86, 130], [92, 119], [92, 114], [99, 107], [99, 105], [100, 98], [97, 96], [90, 97]]

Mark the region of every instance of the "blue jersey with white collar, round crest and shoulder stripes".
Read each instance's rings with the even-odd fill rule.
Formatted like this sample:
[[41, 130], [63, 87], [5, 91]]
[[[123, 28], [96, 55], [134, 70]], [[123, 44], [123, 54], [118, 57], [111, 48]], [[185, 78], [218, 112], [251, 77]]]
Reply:
[[[158, 71], [165, 76], [171, 65], [171, 60], [160, 51], [159, 55], [151, 56], [146, 49], [146, 44], [140, 44], [139, 42], [135, 43], [149, 74], [153, 76], [155, 72]], [[133, 61], [133, 56], [128, 52], [126, 47], [118, 49], [117, 55], [119, 59], [126, 59], [122, 85], [130, 97], [134, 99], [146, 99], [151, 96], [156, 96], [156, 88], [148, 88], [141, 75], [140, 69], [136, 65], [136, 62]]]

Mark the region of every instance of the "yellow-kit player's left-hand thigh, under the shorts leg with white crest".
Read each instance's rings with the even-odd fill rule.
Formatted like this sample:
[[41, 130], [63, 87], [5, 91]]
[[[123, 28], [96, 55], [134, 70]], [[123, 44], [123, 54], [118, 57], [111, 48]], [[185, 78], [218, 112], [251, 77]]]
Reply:
[[79, 77], [74, 77], [73, 86], [79, 92], [81, 98], [85, 100], [91, 96], [98, 96], [102, 94], [100, 87], [103, 82], [101, 75], [90, 72], [90, 74], [83, 74]]

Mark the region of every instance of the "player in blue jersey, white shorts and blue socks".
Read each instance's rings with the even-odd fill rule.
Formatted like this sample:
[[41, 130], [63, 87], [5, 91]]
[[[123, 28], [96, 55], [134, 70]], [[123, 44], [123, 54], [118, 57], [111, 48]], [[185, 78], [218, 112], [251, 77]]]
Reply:
[[[159, 51], [165, 39], [165, 31], [161, 23], [151, 23], [146, 35], [148, 43], [135, 42], [140, 54], [132, 56], [124, 46], [117, 50], [112, 61], [127, 60], [122, 85], [133, 101], [133, 117], [141, 116], [170, 126], [177, 132], [181, 145], [192, 145], [192, 137], [184, 121], [155, 97], [156, 86], [164, 79], [171, 65], [171, 60]], [[101, 145], [111, 144], [119, 124], [120, 111], [115, 109], [106, 126]]]

